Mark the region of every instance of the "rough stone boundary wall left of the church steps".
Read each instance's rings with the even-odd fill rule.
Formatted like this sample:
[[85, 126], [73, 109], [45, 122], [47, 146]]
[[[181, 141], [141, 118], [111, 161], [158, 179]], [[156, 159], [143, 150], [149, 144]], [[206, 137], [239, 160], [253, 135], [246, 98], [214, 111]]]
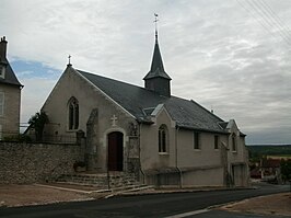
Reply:
[[83, 161], [78, 145], [0, 142], [0, 184], [46, 182], [73, 172]]

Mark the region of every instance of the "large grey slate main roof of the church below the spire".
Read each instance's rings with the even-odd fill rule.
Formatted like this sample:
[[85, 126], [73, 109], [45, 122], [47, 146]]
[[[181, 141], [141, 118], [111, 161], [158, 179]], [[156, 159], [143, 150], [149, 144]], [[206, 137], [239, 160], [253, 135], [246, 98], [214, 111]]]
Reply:
[[163, 104], [178, 127], [226, 133], [220, 126], [220, 123], [223, 122], [221, 118], [193, 100], [189, 101], [173, 95], [165, 97], [141, 87], [81, 70], [77, 71], [140, 122], [150, 122], [149, 115], [151, 112], [159, 104]]

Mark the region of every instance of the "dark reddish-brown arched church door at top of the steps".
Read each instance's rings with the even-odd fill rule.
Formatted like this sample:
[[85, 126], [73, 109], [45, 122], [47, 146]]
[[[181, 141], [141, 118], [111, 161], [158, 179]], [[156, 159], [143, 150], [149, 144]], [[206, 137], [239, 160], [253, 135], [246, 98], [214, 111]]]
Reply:
[[124, 168], [124, 134], [113, 131], [107, 135], [109, 171], [123, 171]]

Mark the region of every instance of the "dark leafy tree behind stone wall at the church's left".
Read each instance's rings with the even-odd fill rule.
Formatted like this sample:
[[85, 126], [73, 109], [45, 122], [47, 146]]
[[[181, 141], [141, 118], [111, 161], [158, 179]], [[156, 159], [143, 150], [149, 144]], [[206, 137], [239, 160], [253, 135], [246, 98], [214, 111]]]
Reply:
[[45, 112], [42, 111], [35, 113], [35, 115], [33, 115], [30, 118], [28, 124], [35, 130], [36, 141], [40, 141], [43, 139], [44, 128], [47, 123], [48, 123], [48, 116]]

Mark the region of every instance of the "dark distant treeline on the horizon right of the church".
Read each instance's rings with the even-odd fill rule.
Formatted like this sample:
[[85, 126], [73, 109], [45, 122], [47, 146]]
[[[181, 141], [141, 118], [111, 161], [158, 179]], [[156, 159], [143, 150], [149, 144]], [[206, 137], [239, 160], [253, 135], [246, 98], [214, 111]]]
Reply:
[[246, 146], [249, 151], [249, 158], [263, 156], [291, 156], [291, 145], [249, 145]]

